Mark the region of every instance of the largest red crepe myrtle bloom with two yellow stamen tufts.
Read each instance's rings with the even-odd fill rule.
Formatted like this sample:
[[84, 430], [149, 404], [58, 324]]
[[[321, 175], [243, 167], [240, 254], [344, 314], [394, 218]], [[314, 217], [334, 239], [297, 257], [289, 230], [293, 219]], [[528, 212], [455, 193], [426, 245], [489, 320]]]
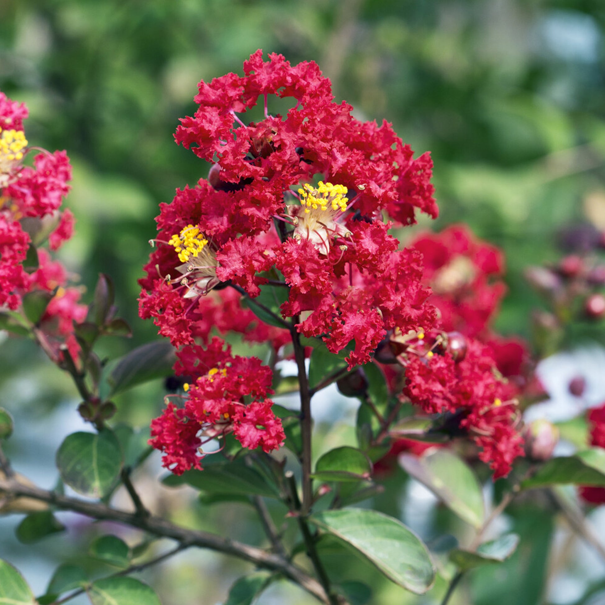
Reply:
[[[175, 346], [190, 344], [208, 338], [212, 287], [254, 297], [278, 270], [289, 287], [282, 315], [333, 352], [355, 340], [350, 367], [369, 361], [387, 330], [429, 329], [419, 257], [399, 250], [382, 221], [384, 211], [394, 224], [415, 222], [416, 209], [436, 217], [428, 154], [414, 160], [388, 123], [353, 118], [312, 62], [264, 62], [257, 51], [244, 76], [198, 90], [199, 109], [175, 139], [214, 166], [161, 206], [141, 315]], [[271, 96], [292, 99], [285, 116], [269, 114]], [[264, 119], [244, 122], [259, 100]]]

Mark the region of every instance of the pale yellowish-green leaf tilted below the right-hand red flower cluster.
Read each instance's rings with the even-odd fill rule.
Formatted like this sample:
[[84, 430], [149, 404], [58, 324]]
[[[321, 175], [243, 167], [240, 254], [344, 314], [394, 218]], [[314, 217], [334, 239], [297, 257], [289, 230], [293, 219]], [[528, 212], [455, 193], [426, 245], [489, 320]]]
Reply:
[[482, 526], [485, 510], [481, 485], [463, 460], [448, 450], [433, 450], [422, 457], [402, 454], [399, 463], [466, 523]]

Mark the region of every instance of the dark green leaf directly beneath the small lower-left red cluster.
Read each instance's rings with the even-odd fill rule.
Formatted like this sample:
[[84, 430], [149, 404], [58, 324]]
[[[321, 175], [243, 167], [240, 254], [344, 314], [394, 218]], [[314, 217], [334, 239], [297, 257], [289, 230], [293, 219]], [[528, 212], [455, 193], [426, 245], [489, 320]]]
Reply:
[[280, 496], [275, 485], [268, 483], [257, 470], [240, 460], [210, 464], [204, 466], [203, 471], [186, 471], [180, 477], [169, 475], [163, 483], [169, 486], [187, 483], [195, 489], [218, 494]]

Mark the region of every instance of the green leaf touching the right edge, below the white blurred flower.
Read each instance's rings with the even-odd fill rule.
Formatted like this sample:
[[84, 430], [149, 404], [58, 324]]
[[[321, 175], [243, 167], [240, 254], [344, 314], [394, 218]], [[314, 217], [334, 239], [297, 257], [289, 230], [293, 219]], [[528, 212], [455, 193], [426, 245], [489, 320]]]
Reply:
[[605, 486], [605, 450], [590, 448], [574, 456], [551, 458], [521, 487], [530, 489], [566, 483]]

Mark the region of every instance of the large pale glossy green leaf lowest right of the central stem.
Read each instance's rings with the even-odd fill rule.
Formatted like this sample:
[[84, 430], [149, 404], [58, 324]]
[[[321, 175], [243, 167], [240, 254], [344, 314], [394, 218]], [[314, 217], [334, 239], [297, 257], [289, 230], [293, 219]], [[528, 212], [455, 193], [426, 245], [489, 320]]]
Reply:
[[416, 594], [430, 589], [435, 569], [427, 547], [403, 523], [381, 512], [348, 508], [310, 521], [364, 555], [390, 580]]

